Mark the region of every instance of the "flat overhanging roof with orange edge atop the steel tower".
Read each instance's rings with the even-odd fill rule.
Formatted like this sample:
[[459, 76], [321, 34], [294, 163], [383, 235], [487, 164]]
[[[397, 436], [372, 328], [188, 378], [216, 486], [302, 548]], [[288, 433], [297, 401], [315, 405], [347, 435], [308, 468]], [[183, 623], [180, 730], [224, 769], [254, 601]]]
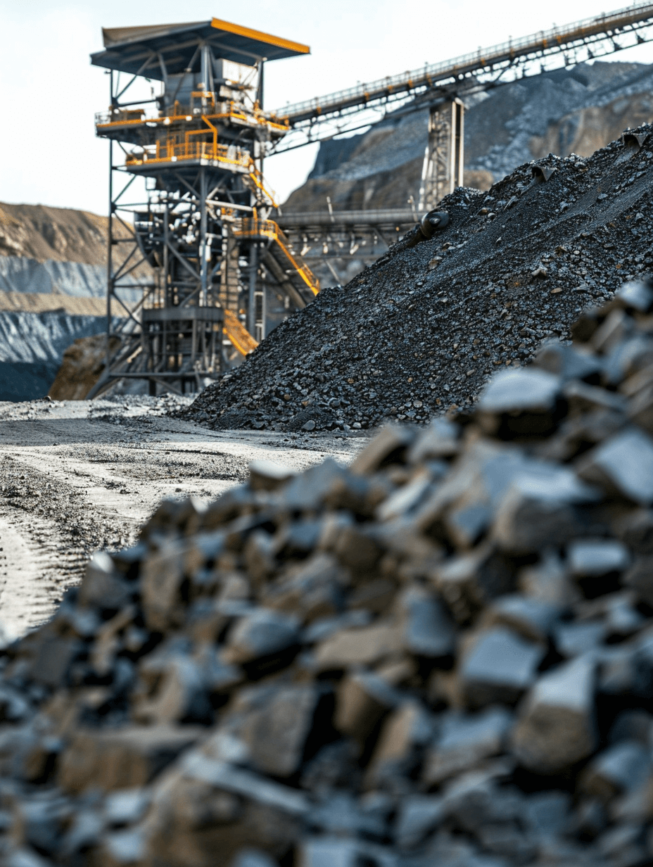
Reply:
[[[200, 67], [199, 45], [210, 45], [213, 54], [253, 66], [266, 60], [310, 54], [308, 45], [291, 42], [219, 18], [186, 24], [154, 24], [147, 27], [102, 28], [104, 51], [91, 55], [91, 63], [144, 75], [162, 81], [187, 68]], [[165, 68], [165, 74], [164, 74]]]

